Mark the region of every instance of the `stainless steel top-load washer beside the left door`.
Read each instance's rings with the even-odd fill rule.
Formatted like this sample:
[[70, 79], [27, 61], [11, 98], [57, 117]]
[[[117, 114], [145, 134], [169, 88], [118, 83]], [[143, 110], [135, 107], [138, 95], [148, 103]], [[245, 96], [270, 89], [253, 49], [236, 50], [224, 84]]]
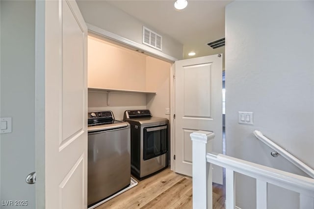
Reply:
[[130, 124], [88, 112], [88, 208], [130, 185]]

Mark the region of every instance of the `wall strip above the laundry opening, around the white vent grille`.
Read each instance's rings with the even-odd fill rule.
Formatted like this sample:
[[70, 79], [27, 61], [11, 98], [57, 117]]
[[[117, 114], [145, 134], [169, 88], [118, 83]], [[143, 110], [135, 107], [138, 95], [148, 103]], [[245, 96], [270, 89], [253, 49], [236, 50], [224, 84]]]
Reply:
[[[142, 44], [142, 30], [144, 25], [162, 35], [163, 53], [179, 60], [182, 59], [183, 45], [181, 43], [166, 34], [160, 33], [149, 25], [138, 21], [124, 11], [105, 2], [105, 0], [78, 0], [77, 3], [86, 23], [95, 25], [139, 44]], [[156, 51], [158, 50], [156, 49]]]

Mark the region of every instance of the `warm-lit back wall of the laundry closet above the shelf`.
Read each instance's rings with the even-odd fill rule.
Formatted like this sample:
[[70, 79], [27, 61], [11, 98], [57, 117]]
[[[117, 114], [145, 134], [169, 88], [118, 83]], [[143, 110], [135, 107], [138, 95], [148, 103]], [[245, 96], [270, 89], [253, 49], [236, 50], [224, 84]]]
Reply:
[[88, 36], [88, 87], [146, 90], [146, 55]]

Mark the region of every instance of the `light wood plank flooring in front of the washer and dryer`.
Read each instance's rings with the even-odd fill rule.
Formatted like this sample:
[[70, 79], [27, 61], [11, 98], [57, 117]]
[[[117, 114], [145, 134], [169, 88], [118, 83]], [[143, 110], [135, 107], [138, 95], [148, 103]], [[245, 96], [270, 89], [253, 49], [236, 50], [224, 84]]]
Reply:
[[[213, 186], [213, 209], [224, 209], [222, 186]], [[96, 209], [192, 209], [192, 179], [169, 168]]]

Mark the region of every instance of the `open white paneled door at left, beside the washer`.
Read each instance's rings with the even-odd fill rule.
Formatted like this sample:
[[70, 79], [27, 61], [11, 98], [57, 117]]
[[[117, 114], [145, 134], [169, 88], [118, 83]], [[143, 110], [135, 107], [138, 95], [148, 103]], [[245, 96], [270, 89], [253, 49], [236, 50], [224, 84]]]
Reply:
[[[38, 2], [36, 8], [42, 9], [36, 14], [44, 15], [42, 22], [36, 19], [36, 26], [45, 25], [45, 201], [41, 203], [46, 209], [86, 209], [87, 26], [75, 0]], [[43, 176], [37, 174], [39, 178]], [[38, 200], [37, 208], [41, 208]]]

